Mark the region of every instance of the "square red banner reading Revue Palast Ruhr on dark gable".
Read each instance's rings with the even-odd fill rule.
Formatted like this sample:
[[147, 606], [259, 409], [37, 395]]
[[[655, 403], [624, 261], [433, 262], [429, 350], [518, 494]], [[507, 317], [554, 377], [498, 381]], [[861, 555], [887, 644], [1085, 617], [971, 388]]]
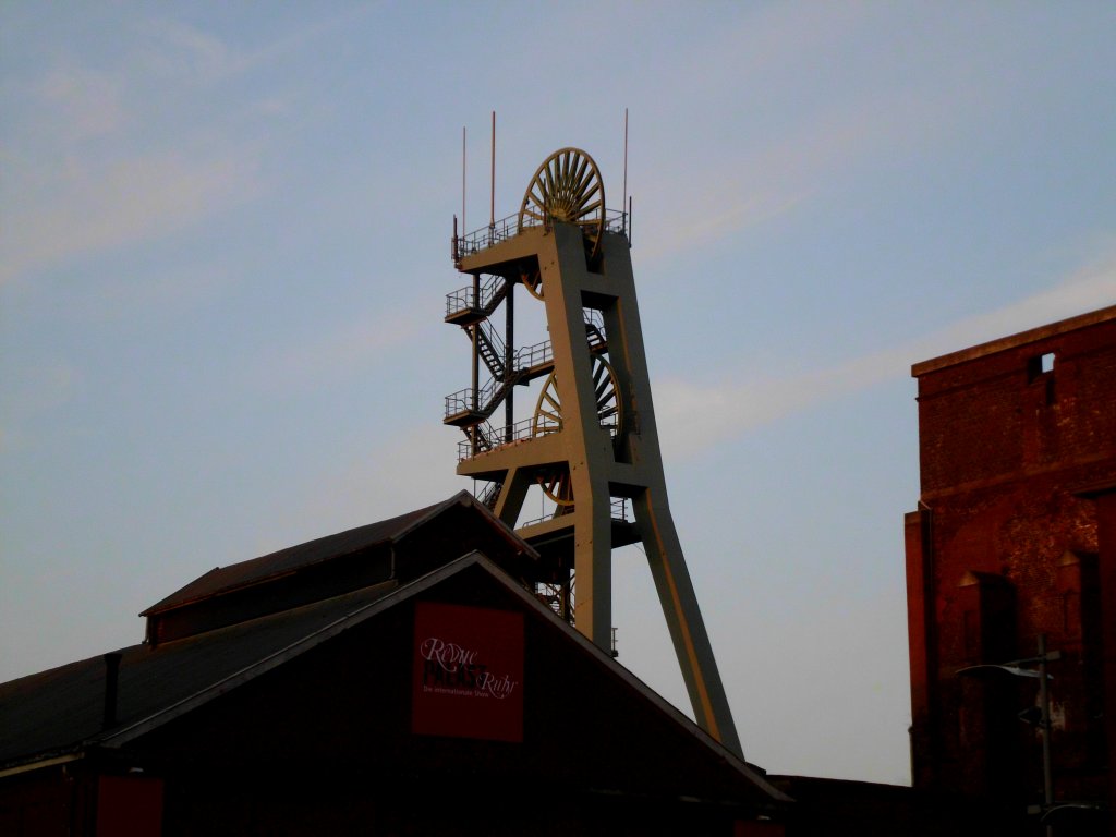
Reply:
[[523, 740], [523, 615], [415, 605], [413, 732]]

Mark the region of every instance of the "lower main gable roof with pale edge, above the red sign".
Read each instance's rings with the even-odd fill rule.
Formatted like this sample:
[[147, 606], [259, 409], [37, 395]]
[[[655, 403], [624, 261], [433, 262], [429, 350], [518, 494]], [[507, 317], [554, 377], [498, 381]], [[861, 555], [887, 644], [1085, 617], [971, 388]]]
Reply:
[[559, 632], [568, 643], [566, 647], [573, 646], [605, 676], [634, 690], [660, 716], [695, 739], [700, 749], [711, 751], [710, 757], [727, 763], [752, 788], [750, 792], [776, 802], [788, 800], [480, 552], [450, 561], [410, 584], [365, 588], [157, 647], [125, 648], [119, 668], [119, 720], [109, 729], [102, 729], [105, 665], [100, 657], [0, 684], [0, 718], [8, 721], [0, 729], [0, 777], [67, 754], [77, 757], [93, 748], [123, 747], [465, 573], [473, 574], [468, 576], [470, 586], [481, 580], [498, 585], [503, 590], [501, 595], [510, 594], [547, 629]]

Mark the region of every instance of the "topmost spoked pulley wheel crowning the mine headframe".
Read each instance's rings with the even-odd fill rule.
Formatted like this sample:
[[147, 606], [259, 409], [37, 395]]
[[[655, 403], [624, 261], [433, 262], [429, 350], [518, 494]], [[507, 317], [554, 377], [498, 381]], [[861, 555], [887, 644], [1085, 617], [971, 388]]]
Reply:
[[[520, 232], [555, 221], [580, 227], [589, 246], [589, 258], [596, 257], [605, 231], [605, 184], [593, 157], [580, 148], [560, 148], [547, 157], [523, 195]], [[541, 296], [541, 291], [536, 296]]]

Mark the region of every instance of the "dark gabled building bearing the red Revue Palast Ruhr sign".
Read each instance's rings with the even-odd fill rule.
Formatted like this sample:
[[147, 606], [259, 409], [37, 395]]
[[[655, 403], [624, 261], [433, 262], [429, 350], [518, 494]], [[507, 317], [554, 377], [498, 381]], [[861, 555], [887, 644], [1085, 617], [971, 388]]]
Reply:
[[0, 684], [0, 834], [782, 834], [537, 558], [462, 492], [206, 573], [143, 644]]

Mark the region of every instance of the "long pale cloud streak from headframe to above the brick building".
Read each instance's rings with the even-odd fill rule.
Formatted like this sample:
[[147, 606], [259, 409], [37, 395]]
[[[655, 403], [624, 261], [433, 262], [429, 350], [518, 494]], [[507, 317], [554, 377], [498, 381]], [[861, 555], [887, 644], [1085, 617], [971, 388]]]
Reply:
[[[670, 455], [691, 456], [835, 397], [905, 377], [912, 364], [920, 360], [1114, 304], [1116, 252], [1048, 290], [831, 367], [783, 377], [740, 369], [718, 376], [719, 382], [740, 382], [733, 386], [704, 385], [679, 377], [658, 381], [655, 405], [663, 449]], [[701, 405], [700, 411], [694, 410], [695, 404]]]

